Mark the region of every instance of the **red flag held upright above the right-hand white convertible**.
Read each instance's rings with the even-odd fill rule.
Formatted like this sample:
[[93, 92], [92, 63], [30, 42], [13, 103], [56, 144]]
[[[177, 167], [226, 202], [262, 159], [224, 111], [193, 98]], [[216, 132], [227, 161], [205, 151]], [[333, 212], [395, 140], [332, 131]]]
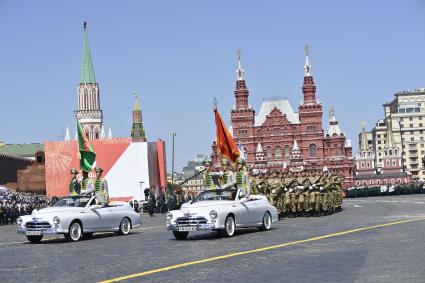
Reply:
[[238, 146], [236, 145], [233, 137], [230, 135], [226, 128], [226, 125], [221, 119], [220, 113], [217, 109], [214, 109], [215, 124], [217, 126], [217, 149], [220, 150], [221, 154], [227, 157], [232, 162], [236, 162], [239, 156]]

